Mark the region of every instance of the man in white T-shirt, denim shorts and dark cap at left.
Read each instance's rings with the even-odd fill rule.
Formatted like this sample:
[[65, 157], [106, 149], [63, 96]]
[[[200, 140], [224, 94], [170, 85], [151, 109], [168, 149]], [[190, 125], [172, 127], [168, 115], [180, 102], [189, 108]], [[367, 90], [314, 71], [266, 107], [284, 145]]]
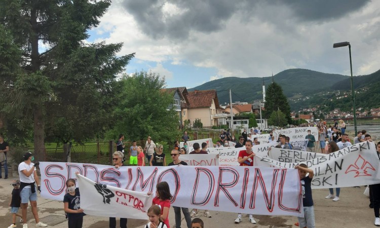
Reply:
[[[30, 206], [32, 209], [32, 213], [35, 220], [36, 227], [45, 227], [47, 224], [40, 221], [39, 214], [37, 211], [37, 189], [41, 193], [40, 187], [40, 179], [37, 176], [37, 172], [35, 171], [35, 167], [39, 165], [39, 162], [35, 164], [31, 161], [34, 160], [34, 157], [30, 152], [26, 153], [24, 156], [24, 162], [21, 162], [18, 166], [18, 174], [20, 176], [20, 198], [21, 198], [21, 212], [22, 212], [22, 220], [24, 221], [24, 225], [22, 228], [28, 228], [28, 224], [26, 223], [26, 212], [28, 209], [28, 202], [30, 201]], [[37, 189], [35, 184], [37, 184]]]

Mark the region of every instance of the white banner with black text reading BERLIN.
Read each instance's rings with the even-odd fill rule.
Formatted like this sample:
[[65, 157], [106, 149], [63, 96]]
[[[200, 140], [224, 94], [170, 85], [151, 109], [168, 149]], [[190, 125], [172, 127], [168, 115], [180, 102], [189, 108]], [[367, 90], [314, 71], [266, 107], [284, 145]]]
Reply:
[[269, 151], [269, 158], [286, 163], [299, 163], [320, 158], [322, 156], [325, 156], [325, 154], [276, 147], [272, 147]]

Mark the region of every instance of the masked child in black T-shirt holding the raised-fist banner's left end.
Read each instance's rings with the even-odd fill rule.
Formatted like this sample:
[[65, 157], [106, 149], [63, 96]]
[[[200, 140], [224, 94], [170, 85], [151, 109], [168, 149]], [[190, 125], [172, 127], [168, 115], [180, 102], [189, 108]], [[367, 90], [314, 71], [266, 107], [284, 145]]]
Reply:
[[68, 228], [80, 228], [83, 224], [83, 209], [81, 208], [81, 194], [75, 188], [75, 180], [66, 181], [68, 193], [63, 197], [63, 208], [67, 216]]

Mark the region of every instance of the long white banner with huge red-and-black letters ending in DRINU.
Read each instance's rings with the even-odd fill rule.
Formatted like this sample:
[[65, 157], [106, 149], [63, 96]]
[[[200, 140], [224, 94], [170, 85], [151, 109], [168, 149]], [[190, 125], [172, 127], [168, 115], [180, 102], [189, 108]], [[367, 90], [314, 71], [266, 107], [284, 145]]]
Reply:
[[156, 192], [157, 183], [166, 181], [173, 196], [171, 205], [178, 207], [303, 216], [300, 181], [294, 169], [247, 166], [122, 166], [115, 169], [50, 162], [41, 162], [40, 168], [41, 194], [48, 199], [62, 200], [67, 190], [65, 181], [79, 172], [94, 182], [144, 193]]

